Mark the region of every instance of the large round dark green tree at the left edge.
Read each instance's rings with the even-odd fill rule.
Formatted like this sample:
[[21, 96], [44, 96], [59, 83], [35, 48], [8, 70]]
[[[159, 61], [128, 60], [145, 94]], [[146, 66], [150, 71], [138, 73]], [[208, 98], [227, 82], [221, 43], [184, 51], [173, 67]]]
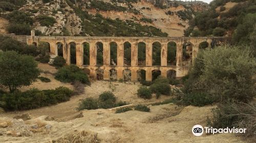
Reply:
[[31, 85], [39, 75], [40, 70], [33, 57], [14, 51], [0, 53], [0, 84], [9, 88], [10, 92]]

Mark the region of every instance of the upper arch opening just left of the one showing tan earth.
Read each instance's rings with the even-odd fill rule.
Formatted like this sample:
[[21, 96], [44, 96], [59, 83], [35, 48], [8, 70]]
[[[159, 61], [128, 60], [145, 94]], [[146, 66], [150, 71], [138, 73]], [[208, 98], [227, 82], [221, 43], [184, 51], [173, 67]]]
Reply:
[[177, 44], [168, 42], [167, 44], [167, 65], [176, 65]]

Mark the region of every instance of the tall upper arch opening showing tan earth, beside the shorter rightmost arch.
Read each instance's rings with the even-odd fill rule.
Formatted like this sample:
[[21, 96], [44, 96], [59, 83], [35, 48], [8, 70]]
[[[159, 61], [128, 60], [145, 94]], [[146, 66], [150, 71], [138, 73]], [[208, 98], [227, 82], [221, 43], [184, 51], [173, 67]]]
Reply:
[[191, 62], [192, 62], [192, 47], [193, 47], [193, 44], [189, 41], [183, 43], [182, 65], [191, 65]]

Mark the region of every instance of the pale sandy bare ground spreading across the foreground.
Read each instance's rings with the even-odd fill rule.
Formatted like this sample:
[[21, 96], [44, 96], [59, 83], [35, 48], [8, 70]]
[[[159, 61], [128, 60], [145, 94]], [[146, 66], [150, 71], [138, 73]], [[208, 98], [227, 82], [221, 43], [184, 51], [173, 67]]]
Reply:
[[[54, 73], [56, 70], [46, 64], [40, 64], [40, 68]], [[45, 76], [50, 77], [51, 74]], [[42, 84], [39, 81], [30, 87], [54, 88], [57, 81]], [[71, 87], [70, 84], [58, 83], [59, 86]], [[111, 88], [110, 88], [111, 85]], [[202, 135], [195, 137], [191, 128], [200, 124], [206, 125], [206, 117], [211, 116], [211, 108], [206, 107], [179, 107], [174, 104], [149, 106], [151, 112], [128, 111], [114, 113], [113, 110], [97, 109], [82, 110], [78, 112], [76, 107], [81, 99], [86, 97], [98, 97], [98, 94], [114, 89], [118, 100], [131, 102], [132, 104], [150, 104], [159, 102], [155, 97], [152, 100], [138, 99], [136, 90], [139, 84], [124, 84], [114, 82], [96, 81], [91, 86], [85, 87], [85, 93], [71, 98], [70, 101], [50, 107], [42, 107], [21, 112], [0, 113], [0, 123], [8, 122], [9, 126], [0, 127], [0, 142], [51, 142], [68, 133], [88, 131], [97, 134], [100, 142], [244, 142], [234, 134]], [[113, 88], [115, 87], [115, 88]], [[39, 88], [39, 89], [40, 89]], [[164, 97], [163, 98], [170, 98]], [[29, 113], [31, 120], [18, 121], [12, 119], [15, 115]], [[54, 117], [54, 121], [45, 120], [47, 116]], [[33, 125], [39, 129], [33, 130]], [[51, 125], [50, 129], [44, 128]], [[7, 135], [7, 131], [21, 133], [22, 136]], [[26, 133], [26, 134], [25, 134]]]

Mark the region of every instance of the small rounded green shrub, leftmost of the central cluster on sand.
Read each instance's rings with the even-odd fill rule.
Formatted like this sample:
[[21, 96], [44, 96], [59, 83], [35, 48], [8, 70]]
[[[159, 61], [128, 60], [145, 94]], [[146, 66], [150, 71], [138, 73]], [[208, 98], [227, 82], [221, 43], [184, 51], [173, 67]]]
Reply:
[[82, 100], [79, 105], [78, 105], [78, 110], [94, 110], [94, 109], [98, 109], [98, 101], [96, 99], [93, 98], [86, 98], [85, 100]]

